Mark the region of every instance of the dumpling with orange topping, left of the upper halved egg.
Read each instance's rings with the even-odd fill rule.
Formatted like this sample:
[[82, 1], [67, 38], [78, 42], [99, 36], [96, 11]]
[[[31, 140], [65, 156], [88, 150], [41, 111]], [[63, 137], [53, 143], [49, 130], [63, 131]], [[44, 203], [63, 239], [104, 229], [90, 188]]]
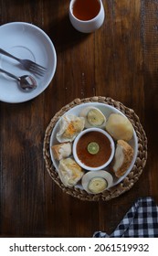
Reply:
[[83, 117], [74, 114], [64, 115], [59, 123], [57, 133], [58, 142], [72, 142], [75, 137], [84, 129], [85, 120]]

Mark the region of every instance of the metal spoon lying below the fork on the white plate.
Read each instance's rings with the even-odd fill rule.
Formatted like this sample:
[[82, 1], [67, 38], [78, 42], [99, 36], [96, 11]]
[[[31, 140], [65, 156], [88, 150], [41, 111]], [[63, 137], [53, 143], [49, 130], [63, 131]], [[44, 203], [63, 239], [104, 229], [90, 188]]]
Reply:
[[7, 76], [18, 81], [20, 88], [23, 91], [32, 91], [37, 88], [37, 81], [30, 75], [24, 75], [21, 77], [16, 77], [15, 75], [7, 72], [4, 69], [0, 69], [0, 72], [5, 73]]

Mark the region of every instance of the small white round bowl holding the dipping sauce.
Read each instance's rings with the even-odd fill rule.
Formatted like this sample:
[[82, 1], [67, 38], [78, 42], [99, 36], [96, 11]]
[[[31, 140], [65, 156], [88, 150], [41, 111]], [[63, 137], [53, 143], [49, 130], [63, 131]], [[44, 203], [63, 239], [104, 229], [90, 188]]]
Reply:
[[[108, 161], [106, 161], [103, 165], [100, 165], [100, 166], [97, 166], [97, 167], [91, 167], [89, 165], [85, 165], [84, 163], [82, 163], [79, 159], [79, 156], [77, 154], [77, 144], [79, 142], [79, 139], [85, 134], [85, 133], [90, 133], [90, 132], [98, 132], [98, 133], [102, 133], [106, 136], [106, 138], [109, 139], [110, 141], [110, 144], [111, 144], [111, 155], [108, 159]], [[114, 156], [114, 153], [115, 153], [115, 144], [113, 142], [113, 139], [111, 138], [111, 135], [109, 133], [107, 133], [106, 131], [100, 129], [100, 128], [88, 128], [86, 130], [83, 130], [81, 133], [79, 133], [79, 135], [75, 138], [74, 140], [74, 143], [73, 143], [73, 148], [72, 148], [72, 151], [73, 151], [73, 156], [74, 156], [74, 159], [75, 161], [85, 170], [88, 170], [88, 171], [98, 171], [98, 170], [101, 170], [103, 168], [105, 168], [106, 166], [110, 165], [112, 159], [113, 159], [113, 156]]]

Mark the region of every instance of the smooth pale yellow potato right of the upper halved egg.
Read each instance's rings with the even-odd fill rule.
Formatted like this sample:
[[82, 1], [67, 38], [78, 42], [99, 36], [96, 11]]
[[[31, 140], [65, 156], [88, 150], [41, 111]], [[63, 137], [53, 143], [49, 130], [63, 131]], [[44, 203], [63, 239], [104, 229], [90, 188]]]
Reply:
[[115, 140], [130, 141], [133, 135], [132, 123], [119, 113], [111, 113], [106, 123], [106, 130]]

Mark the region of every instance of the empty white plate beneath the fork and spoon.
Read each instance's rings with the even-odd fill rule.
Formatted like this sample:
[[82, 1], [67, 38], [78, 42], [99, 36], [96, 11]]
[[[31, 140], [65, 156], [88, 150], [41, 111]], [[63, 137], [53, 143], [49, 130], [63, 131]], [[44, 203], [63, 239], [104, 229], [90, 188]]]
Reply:
[[37, 80], [37, 89], [31, 92], [20, 91], [16, 80], [0, 73], [0, 101], [18, 103], [29, 101], [43, 92], [53, 79], [57, 55], [47, 34], [32, 24], [24, 22], [7, 23], [0, 27], [0, 48], [20, 59], [31, 59], [47, 68], [43, 77], [37, 77], [25, 70], [16, 60], [0, 54], [0, 68], [22, 76], [31, 74]]

